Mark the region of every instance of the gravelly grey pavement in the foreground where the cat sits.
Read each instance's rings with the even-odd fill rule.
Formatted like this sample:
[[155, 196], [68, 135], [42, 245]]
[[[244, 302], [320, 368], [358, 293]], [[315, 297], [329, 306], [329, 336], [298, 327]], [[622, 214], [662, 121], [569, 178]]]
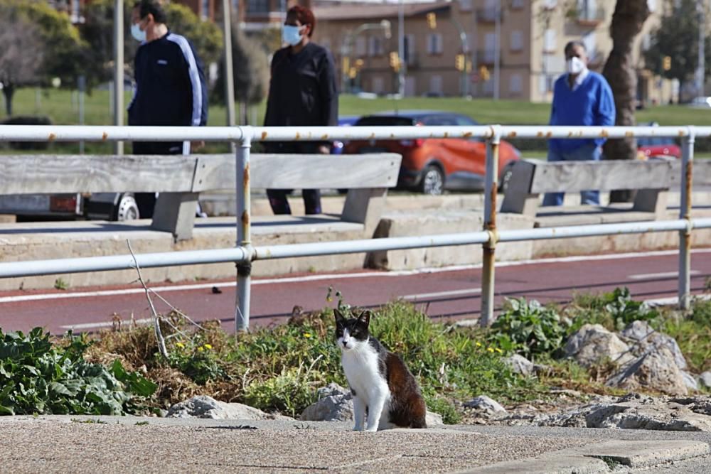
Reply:
[[[350, 423], [0, 417], [0, 472], [610, 472], [709, 453], [711, 433]], [[662, 440], [662, 441], [659, 441]], [[702, 459], [702, 458], [701, 458]]]

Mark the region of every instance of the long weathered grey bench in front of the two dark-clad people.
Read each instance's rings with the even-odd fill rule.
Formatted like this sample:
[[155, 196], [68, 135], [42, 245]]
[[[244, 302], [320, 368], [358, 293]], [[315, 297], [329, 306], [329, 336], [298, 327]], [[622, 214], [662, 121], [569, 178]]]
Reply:
[[[341, 220], [374, 230], [395, 187], [402, 157], [269, 155], [250, 158], [252, 188], [348, 189]], [[151, 227], [192, 237], [200, 193], [235, 190], [235, 162], [226, 155], [0, 156], [0, 194], [160, 193]]]

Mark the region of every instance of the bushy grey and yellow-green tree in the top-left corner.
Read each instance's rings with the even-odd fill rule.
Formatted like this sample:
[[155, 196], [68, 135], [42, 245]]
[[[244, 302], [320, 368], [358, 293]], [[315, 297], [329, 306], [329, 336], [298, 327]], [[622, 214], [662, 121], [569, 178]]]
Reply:
[[84, 63], [85, 43], [67, 14], [44, 1], [0, 0], [0, 18], [0, 81], [9, 115], [19, 87], [47, 85], [53, 77], [74, 84]]

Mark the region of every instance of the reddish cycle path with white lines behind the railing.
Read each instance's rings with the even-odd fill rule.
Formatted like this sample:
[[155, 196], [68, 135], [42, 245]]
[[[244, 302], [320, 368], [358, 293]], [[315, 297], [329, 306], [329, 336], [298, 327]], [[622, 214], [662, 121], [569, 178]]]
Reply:
[[[611, 254], [528, 262], [503, 262], [496, 268], [496, 305], [504, 297], [535, 298], [542, 303], [570, 301], [575, 293], [602, 293], [628, 286], [638, 300], [672, 298], [677, 292], [678, 255], [674, 251]], [[708, 293], [711, 249], [692, 254], [692, 291]], [[432, 318], [476, 318], [481, 306], [481, 267], [463, 266], [424, 271], [358, 271], [301, 274], [252, 281], [252, 325], [284, 321], [298, 305], [304, 310], [334, 306], [329, 286], [353, 306], [379, 306], [405, 298]], [[172, 306], [197, 321], [219, 319], [233, 328], [234, 281], [199, 281], [151, 286]], [[154, 298], [156, 299], [156, 298]], [[159, 312], [169, 306], [156, 299]], [[0, 292], [0, 328], [28, 330], [37, 325], [53, 333], [68, 328], [92, 331], [113, 319], [149, 318], [139, 284], [68, 291]]]

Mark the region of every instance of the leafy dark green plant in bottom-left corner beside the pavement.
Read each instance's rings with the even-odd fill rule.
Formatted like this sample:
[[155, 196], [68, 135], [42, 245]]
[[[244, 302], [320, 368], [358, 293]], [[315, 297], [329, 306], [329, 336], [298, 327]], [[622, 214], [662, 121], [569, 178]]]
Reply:
[[71, 334], [66, 345], [53, 345], [42, 328], [28, 335], [0, 330], [0, 414], [136, 412], [156, 384], [127, 372], [119, 360], [108, 368], [86, 362], [89, 345]]

